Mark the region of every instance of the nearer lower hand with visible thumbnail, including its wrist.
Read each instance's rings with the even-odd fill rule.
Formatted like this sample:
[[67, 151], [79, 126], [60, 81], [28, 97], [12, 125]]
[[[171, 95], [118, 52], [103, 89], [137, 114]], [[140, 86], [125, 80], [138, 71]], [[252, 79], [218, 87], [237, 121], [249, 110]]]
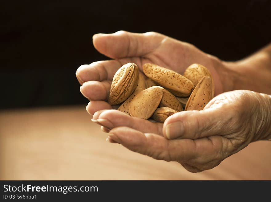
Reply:
[[270, 100], [265, 94], [237, 90], [218, 95], [202, 111], [173, 114], [164, 124], [114, 109], [98, 111], [93, 119], [111, 130], [109, 142], [200, 172], [216, 167], [250, 142], [270, 138]]

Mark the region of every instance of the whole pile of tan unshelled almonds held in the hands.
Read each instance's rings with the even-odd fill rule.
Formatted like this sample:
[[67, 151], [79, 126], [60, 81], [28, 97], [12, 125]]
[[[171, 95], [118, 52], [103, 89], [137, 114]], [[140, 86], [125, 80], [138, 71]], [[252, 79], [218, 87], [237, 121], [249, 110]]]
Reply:
[[121, 104], [119, 111], [133, 117], [164, 122], [184, 110], [202, 110], [214, 97], [214, 81], [208, 69], [190, 65], [180, 75], [155, 64], [144, 64], [143, 72], [134, 63], [124, 64], [115, 73], [108, 103]]

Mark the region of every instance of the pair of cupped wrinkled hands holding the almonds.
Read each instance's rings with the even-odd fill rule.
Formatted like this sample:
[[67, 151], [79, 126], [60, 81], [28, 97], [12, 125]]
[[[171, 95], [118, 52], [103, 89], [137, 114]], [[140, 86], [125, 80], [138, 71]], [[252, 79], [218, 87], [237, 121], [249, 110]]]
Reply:
[[[86, 109], [92, 121], [109, 132], [107, 141], [200, 172], [261, 138], [263, 98], [253, 91], [234, 90], [234, 70], [226, 62], [156, 32], [96, 34], [93, 44], [112, 60], [81, 65], [76, 77], [81, 93], [90, 100]], [[203, 110], [175, 113], [164, 124], [130, 117], [106, 102], [115, 72], [128, 62], [141, 71], [143, 64], [153, 63], [180, 74], [193, 63], [202, 64], [213, 76], [216, 97]]]

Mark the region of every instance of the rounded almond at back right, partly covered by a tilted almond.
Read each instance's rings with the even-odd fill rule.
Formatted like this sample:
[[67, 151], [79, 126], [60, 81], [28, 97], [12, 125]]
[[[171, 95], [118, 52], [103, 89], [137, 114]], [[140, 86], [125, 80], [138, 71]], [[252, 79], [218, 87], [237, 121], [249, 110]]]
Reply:
[[196, 87], [200, 79], [204, 76], [210, 76], [212, 79], [212, 97], [214, 97], [215, 85], [209, 70], [201, 64], [191, 64], [185, 71], [184, 76], [191, 80]]

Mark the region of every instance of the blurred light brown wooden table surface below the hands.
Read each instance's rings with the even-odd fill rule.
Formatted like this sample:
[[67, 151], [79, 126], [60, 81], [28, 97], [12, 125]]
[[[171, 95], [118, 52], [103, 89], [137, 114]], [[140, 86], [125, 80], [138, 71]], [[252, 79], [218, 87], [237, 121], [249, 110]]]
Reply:
[[271, 180], [271, 142], [190, 173], [105, 139], [85, 106], [0, 111], [1, 180]]

